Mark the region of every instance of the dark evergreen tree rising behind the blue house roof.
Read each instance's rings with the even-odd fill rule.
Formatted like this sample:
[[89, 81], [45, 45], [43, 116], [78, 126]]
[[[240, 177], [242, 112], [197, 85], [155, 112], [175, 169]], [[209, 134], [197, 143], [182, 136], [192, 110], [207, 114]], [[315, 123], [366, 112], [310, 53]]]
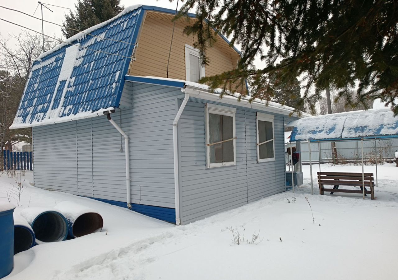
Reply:
[[120, 0], [78, 0], [75, 8], [75, 13], [70, 11], [65, 14], [65, 21], [62, 23], [64, 27], [61, 30], [66, 38], [78, 33], [69, 28], [83, 31], [113, 18], [123, 11], [124, 6], [120, 6]]

